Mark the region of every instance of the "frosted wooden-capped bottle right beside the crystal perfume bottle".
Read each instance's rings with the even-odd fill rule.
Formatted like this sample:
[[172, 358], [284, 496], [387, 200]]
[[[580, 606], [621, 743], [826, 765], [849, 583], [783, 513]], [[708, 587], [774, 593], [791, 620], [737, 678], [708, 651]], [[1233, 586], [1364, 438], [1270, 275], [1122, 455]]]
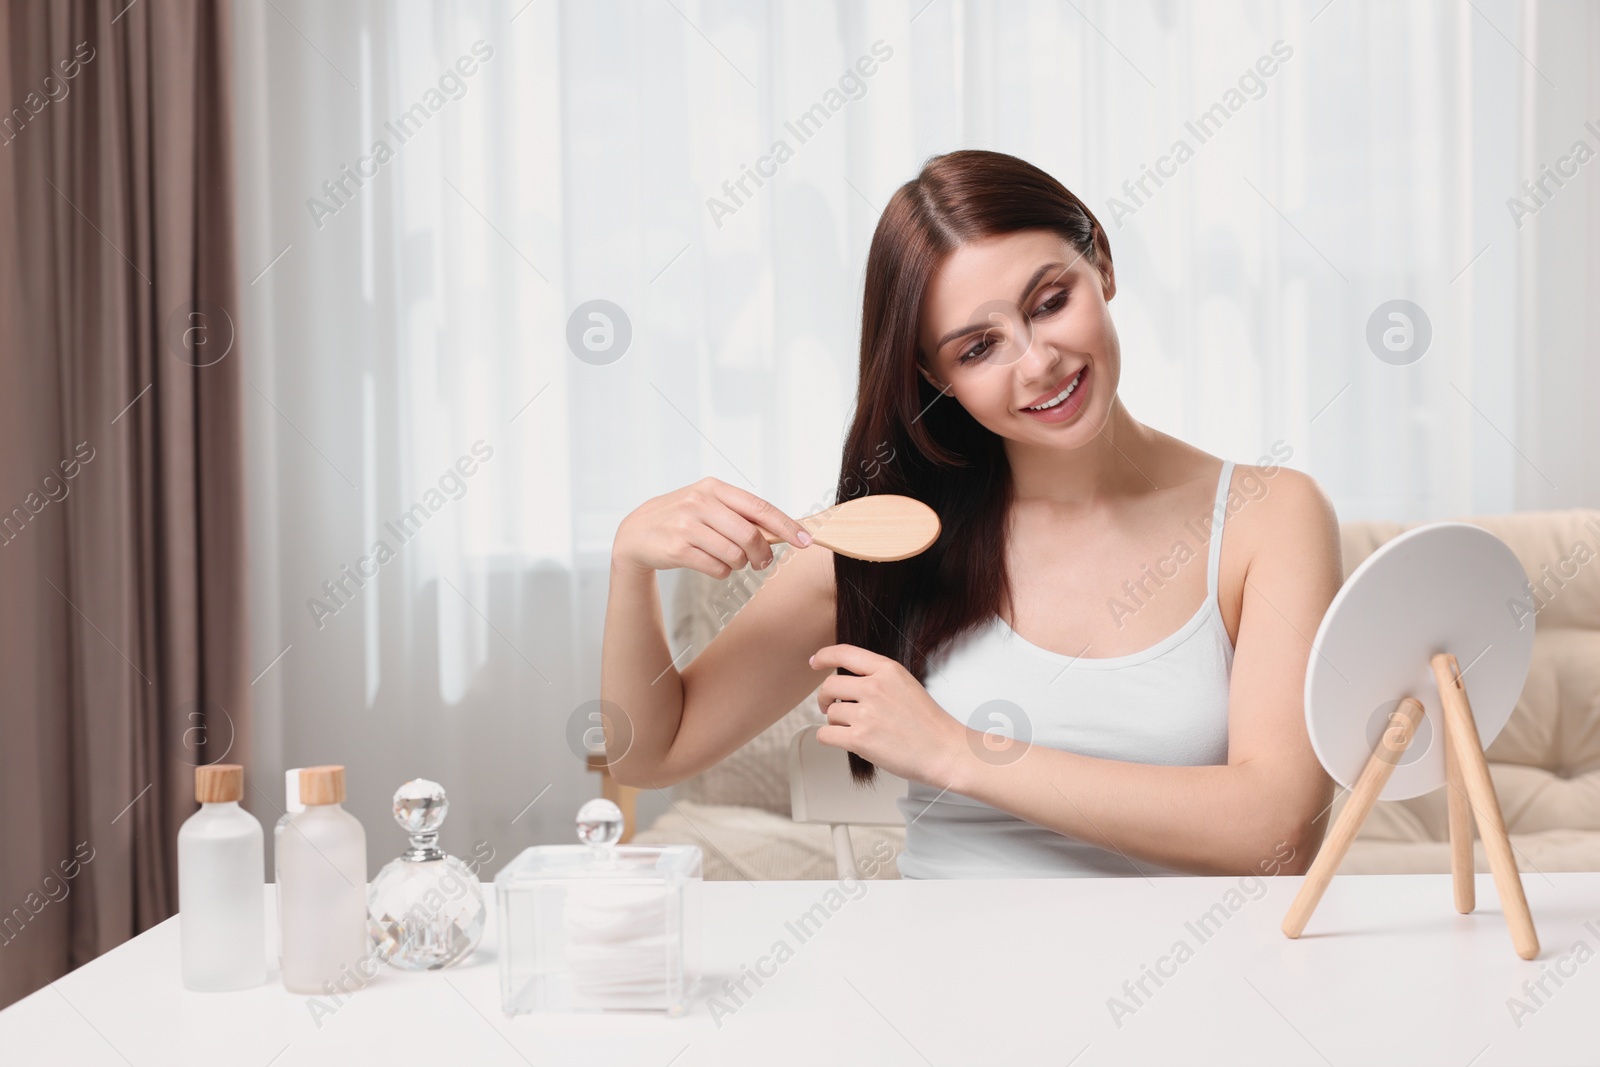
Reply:
[[299, 773], [304, 811], [278, 840], [283, 989], [354, 992], [376, 973], [366, 934], [366, 832], [346, 811], [344, 768]]

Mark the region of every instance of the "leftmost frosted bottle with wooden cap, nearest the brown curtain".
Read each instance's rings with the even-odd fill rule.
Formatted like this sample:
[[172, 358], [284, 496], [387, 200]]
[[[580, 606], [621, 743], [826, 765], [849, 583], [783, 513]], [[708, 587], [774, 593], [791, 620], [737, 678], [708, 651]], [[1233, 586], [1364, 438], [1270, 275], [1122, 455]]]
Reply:
[[178, 829], [178, 941], [186, 989], [226, 992], [267, 981], [262, 833], [238, 806], [245, 768], [195, 768], [200, 811]]

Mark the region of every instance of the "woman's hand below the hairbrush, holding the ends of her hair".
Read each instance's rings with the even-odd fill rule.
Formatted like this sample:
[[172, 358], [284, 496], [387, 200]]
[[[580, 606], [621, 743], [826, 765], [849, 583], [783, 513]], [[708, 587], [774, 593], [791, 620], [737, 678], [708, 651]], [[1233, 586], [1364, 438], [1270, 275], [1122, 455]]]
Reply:
[[904, 664], [858, 645], [829, 645], [811, 656], [811, 665], [851, 672], [822, 681], [816, 702], [827, 725], [816, 731], [818, 741], [848, 749], [890, 774], [934, 789], [950, 784], [971, 731], [939, 707]]

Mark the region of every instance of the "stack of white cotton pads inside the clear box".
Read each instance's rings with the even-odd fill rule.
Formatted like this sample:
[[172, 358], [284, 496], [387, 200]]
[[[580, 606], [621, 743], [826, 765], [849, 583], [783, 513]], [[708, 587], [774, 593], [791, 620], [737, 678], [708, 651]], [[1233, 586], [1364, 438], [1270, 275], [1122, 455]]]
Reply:
[[573, 1008], [659, 1008], [682, 936], [664, 885], [573, 885], [562, 925]]

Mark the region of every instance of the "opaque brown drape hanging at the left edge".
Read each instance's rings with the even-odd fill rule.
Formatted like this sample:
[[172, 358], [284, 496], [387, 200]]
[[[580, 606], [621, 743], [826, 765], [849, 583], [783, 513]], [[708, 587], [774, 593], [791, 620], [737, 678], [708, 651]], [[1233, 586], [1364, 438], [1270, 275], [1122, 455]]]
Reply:
[[245, 761], [226, 6], [0, 6], [0, 1006], [170, 917]]

